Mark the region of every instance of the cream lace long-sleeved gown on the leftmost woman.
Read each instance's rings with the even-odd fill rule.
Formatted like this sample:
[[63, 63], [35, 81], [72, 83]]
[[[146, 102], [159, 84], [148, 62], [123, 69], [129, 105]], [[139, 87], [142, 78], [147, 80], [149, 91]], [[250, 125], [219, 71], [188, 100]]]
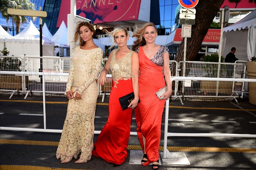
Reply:
[[61, 139], [56, 157], [90, 160], [93, 150], [94, 116], [98, 88], [96, 79], [99, 76], [102, 62], [102, 49], [83, 50], [80, 46], [74, 50], [72, 65], [67, 80], [66, 92], [71, 85], [79, 86], [81, 100], [71, 99], [67, 106]]

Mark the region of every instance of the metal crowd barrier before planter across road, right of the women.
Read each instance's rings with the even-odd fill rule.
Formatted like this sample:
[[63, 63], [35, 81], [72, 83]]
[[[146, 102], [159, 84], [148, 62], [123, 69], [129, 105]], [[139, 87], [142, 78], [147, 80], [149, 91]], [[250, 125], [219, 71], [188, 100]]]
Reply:
[[[182, 66], [181, 66], [182, 64]], [[183, 68], [185, 65], [185, 68]], [[218, 62], [195, 62], [185, 61], [179, 62], [179, 71], [183, 71], [183, 77], [212, 77], [212, 78], [234, 78], [235, 81], [212, 81], [205, 80], [191, 80], [186, 79], [180, 81], [175, 88], [175, 95], [181, 97], [196, 97], [196, 98], [233, 98], [236, 100], [240, 96], [236, 91], [244, 92], [244, 83], [238, 81], [239, 78], [245, 78], [246, 65], [244, 62], [240, 63], [218, 63]], [[181, 75], [181, 74], [178, 74]], [[238, 103], [238, 101], [236, 100]], [[238, 103], [239, 104], [239, 103]]]

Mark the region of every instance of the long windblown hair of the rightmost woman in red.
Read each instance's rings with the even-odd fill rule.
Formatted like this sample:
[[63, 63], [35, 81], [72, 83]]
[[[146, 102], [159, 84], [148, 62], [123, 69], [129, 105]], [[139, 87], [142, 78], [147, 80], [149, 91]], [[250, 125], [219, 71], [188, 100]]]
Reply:
[[131, 46], [133, 51], [136, 51], [140, 46], [143, 46], [146, 44], [145, 38], [143, 37], [143, 34], [145, 32], [145, 29], [148, 26], [152, 26], [154, 27], [155, 31], [157, 32], [157, 27], [154, 25], [154, 23], [145, 23], [141, 28], [138, 28], [138, 26], [136, 25], [135, 28], [137, 29], [137, 31], [134, 32], [132, 37], [136, 37], [137, 40], [134, 41], [134, 44]]

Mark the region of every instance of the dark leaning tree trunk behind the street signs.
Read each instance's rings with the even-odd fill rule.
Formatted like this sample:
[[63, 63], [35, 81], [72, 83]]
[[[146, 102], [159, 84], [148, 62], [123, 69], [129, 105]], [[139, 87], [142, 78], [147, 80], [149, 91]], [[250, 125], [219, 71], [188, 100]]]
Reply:
[[[191, 38], [187, 38], [186, 61], [193, 61], [200, 46], [208, 32], [214, 17], [220, 11], [224, 0], [199, 0], [195, 14], [195, 25], [192, 25]], [[180, 43], [175, 60], [183, 61], [184, 56], [184, 39]]]

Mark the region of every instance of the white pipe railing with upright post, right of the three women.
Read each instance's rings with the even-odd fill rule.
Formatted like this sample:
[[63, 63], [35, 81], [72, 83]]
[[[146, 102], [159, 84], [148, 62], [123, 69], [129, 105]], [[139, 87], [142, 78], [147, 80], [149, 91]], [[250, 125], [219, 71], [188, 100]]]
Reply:
[[[204, 81], [238, 81], [238, 82], [255, 82], [256, 79], [235, 79], [235, 78], [214, 78], [214, 77], [173, 77], [172, 80], [204, 80]], [[245, 138], [256, 138], [256, 134], [229, 134], [229, 133], [169, 133], [168, 132], [168, 120], [169, 120], [169, 99], [166, 100], [165, 109], [165, 126], [164, 126], [164, 143], [163, 143], [163, 158], [167, 157], [167, 137], [168, 136], [201, 136], [201, 137], [245, 137]]]

